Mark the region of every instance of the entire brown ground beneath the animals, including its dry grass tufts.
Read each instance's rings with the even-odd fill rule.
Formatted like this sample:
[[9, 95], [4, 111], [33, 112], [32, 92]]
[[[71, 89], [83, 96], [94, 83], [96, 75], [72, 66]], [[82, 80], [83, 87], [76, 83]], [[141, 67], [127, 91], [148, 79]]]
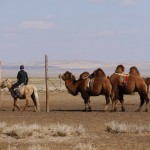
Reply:
[[[2, 92], [0, 149], [148, 150], [150, 147], [150, 112], [135, 112], [140, 103], [137, 94], [125, 96], [125, 112], [120, 112], [120, 104], [117, 112], [111, 112], [110, 103], [105, 113], [103, 96], [91, 97], [92, 112], [83, 112], [81, 96], [74, 97], [65, 90], [50, 91], [49, 112], [45, 93], [40, 92], [39, 98], [41, 112], [33, 112], [32, 101], [26, 112], [13, 112], [12, 97]], [[18, 100], [18, 104], [22, 108], [25, 101]]]

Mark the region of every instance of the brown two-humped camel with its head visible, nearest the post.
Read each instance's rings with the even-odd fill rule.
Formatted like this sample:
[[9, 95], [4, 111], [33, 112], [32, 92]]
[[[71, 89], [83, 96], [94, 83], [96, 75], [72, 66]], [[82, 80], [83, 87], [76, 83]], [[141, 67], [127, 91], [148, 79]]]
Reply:
[[[87, 78], [79, 78], [78, 80], [76, 80], [75, 76], [69, 71], [66, 71], [63, 75], [60, 76], [60, 78], [64, 80], [65, 86], [71, 95], [76, 96], [78, 93], [81, 93], [81, 97], [83, 98], [85, 104], [84, 111], [92, 111], [90, 96], [99, 95], [105, 95], [106, 106], [104, 108], [104, 111], [106, 111], [108, 104], [110, 103], [110, 81], [106, 77], [104, 71], [100, 68], [95, 70], [92, 74], [95, 74], [95, 77], [91, 79], [93, 83], [91, 84], [91, 87], [89, 89], [86, 89], [85, 87], [87, 86]], [[80, 77], [81, 76], [82, 75], [80, 75]]]

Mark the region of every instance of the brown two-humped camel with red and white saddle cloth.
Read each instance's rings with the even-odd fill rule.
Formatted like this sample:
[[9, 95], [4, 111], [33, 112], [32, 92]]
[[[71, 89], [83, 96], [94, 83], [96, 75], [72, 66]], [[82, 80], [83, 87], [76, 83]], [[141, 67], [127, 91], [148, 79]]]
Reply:
[[[124, 68], [124, 66], [119, 65], [117, 66], [119, 68]], [[110, 81], [112, 84], [112, 109], [114, 111], [117, 110], [117, 100], [121, 102], [122, 111], [125, 111], [125, 108], [123, 106], [124, 94], [130, 95], [134, 92], [138, 92], [140, 96], [140, 106], [136, 111], [141, 111], [141, 108], [143, 104], [146, 101], [146, 109], [145, 111], [148, 111], [148, 103], [149, 103], [149, 97], [147, 92], [147, 85], [144, 81], [144, 79], [140, 76], [140, 73], [138, 69], [135, 66], [132, 66], [130, 68], [129, 74], [125, 75], [123, 73], [124, 69], [120, 69], [119, 73], [114, 73], [110, 76]], [[122, 78], [124, 76], [124, 79], [127, 77], [128, 79], [126, 82], [122, 81]]]

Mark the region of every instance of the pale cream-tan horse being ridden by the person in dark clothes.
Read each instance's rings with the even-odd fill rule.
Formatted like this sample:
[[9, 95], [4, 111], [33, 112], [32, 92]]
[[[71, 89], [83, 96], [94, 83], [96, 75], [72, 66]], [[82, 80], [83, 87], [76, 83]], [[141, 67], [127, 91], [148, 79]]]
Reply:
[[17, 105], [17, 98], [19, 99], [25, 99], [26, 100], [26, 104], [25, 106], [23, 107], [23, 111], [26, 110], [26, 108], [28, 107], [29, 105], [29, 99], [30, 97], [32, 98], [33, 100], [33, 103], [34, 103], [34, 111], [40, 111], [40, 105], [39, 105], [39, 97], [38, 97], [38, 92], [37, 92], [37, 89], [34, 85], [31, 85], [31, 84], [28, 84], [28, 85], [21, 85], [19, 86], [19, 95], [17, 95], [17, 97], [14, 95], [14, 90], [12, 89], [13, 87], [13, 83], [10, 79], [6, 79], [4, 80], [0, 87], [3, 89], [3, 88], [8, 88], [10, 93], [11, 93], [11, 96], [13, 97], [14, 99], [14, 107], [12, 109], [12, 111], [15, 111], [16, 108], [20, 111], [21, 109], [19, 108], [19, 106]]

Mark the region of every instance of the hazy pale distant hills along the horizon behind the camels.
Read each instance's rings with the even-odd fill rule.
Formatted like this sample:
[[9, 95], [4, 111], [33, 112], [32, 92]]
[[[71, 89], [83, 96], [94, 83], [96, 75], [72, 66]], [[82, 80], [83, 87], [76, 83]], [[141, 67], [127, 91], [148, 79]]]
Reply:
[[[2, 63], [2, 76], [16, 76], [19, 66], [24, 64], [25, 69], [31, 76], [43, 76], [45, 73], [45, 62], [3, 62]], [[117, 62], [100, 62], [100, 61], [49, 61], [48, 62], [49, 76], [57, 76], [59, 73], [65, 71], [72, 71], [78, 75], [83, 71], [92, 72], [96, 68], [102, 68], [107, 75], [112, 74], [118, 64]], [[125, 66], [125, 73], [129, 72], [131, 66], [136, 66], [141, 75], [150, 76], [150, 63], [149, 62], [128, 62], [121, 63]]]

